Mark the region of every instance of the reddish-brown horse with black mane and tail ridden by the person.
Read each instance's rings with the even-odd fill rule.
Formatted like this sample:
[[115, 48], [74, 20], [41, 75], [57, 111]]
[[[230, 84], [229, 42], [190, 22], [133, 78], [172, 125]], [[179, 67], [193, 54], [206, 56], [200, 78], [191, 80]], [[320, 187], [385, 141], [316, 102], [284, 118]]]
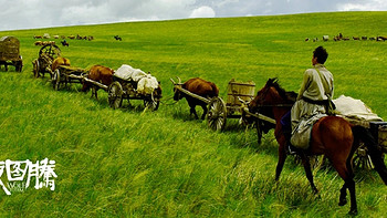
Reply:
[[[276, 121], [275, 138], [280, 144], [279, 163], [276, 165], [275, 180], [279, 180], [283, 165], [286, 159], [286, 138], [281, 124], [281, 118], [291, 110], [289, 92], [285, 92], [278, 83], [276, 79], [269, 79], [265, 86], [260, 90], [253, 101], [249, 104], [252, 113], [260, 113], [270, 116]], [[270, 126], [270, 125], [266, 125]], [[313, 175], [310, 166], [310, 155], [325, 155], [338, 175], [343, 178], [344, 185], [341, 189], [339, 206], [346, 205], [346, 189], [351, 195], [349, 214], [357, 214], [354, 172], [352, 167], [352, 157], [358, 147], [359, 141], [363, 141], [368, 148], [375, 169], [387, 185], [387, 169], [381, 158], [380, 152], [377, 150], [375, 139], [368, 129], [362, 126], [354, 126], [342, 117], [325, 116], [318, 120], [312, 128], [311, 146], [307, 150], [301, 150], [300, 156], [304, 165], [306, 177], [315, 194], [318, 193], [313, 183]]]

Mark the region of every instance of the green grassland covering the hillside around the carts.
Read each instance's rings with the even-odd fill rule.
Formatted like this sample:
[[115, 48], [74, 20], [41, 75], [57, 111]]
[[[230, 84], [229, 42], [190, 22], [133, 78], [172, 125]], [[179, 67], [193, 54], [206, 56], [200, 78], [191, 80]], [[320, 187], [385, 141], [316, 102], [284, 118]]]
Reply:
[[[275, 183], [272, 132], [258, 145], [255, 132], [237, 120], [228, 120], [222, 133], [210, 131], [206, 121], [189, 116], [185, 101], [168, 104], [169, 77], [212, 81], [224, 100], [231, 79], [254, 81], [258, 91], [276, 76], [285, 90], [297, 91], [313, 50], [324, 45], [335, 97], [360, 98], [386, 120], [387, 42], [332, 40], [338, 33], [387, 35], [386, 18], [387, 12], [335, 12], [0, 32], [20, 40], [24, 62], [22, 73], [12, 66], [0, 72], [0, 160], [48, 157], [57, 174], [53, 191], [29, 187], [7, 196], [0, 189], [1, 217], [345, 216], [349, 207], [337, 206], [343, 181], [334, 170], [315, 172], [321, 197], [293, 157]], [[56, 92], [48, 77], [34, 79], [31, 62], [40, 48], [33, 35], [43, 33], [95, 38], [60, 45], [74, 66], [130, 64], [150, 72], [163, 86], [159, 110], [144, 113], [140, 101], [112, 110], [103, 91], [94, 100], [80, 85]], [[322, 35], [331, 41], [304, 41]], [[356, 172], [359, 217], [386, 216], [381, 179]]]

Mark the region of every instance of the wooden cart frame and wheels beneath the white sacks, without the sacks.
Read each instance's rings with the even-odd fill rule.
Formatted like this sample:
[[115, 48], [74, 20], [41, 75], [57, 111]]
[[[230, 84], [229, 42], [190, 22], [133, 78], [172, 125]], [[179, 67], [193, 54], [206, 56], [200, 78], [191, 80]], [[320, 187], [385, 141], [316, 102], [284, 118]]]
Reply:
[[161, 89], [155, 89], [153, 93], [142, 93], [137, 91], [137, 82], [133, 80], [124, 80], [113, 75], [114, 82], [108, 86], [108, 104], [112, 108], [119, 108], [123, 100], [143, 100], [144, 106], [151, 111], [157, 111], [161, 98]]

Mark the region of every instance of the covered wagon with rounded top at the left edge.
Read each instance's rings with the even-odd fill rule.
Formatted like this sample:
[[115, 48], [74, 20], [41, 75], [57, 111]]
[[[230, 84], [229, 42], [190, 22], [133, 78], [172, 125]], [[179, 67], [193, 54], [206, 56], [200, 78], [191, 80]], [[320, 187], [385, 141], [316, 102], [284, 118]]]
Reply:
[[23, 60], [20, 55], [20, 42], [14, 37], [2, 37], [0, 39], [0, 66], [4, 65], [8, 71], [9, 65], [13, 65], [17, 72], [21, 72]]

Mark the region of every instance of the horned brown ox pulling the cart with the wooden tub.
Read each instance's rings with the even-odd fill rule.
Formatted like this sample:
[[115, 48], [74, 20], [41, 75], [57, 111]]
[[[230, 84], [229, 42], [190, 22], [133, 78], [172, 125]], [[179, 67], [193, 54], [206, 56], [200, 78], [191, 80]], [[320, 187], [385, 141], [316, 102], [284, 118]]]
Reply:
[[[179, 81], [179, 83], [181, 83], [181, 81]], [[187, 82], [185, 82], [184, 84], [181, 84], [181, 87], [194, 93], [197, 95], [200, 95], [202, 97], [209, 98], [209, 97], [215, 97], [219, 95], [219, 89], [217, 87], [217, 85], [212, 82], [207, 82], [200, 77], [195, 77], [195, 79], [190, 79]], [[190, 114], [195, 115], [195, 118], [199, 118], [198, 114], [196, 113], [195, 107], [197, 105], [200, 105], [201, 108], [203, 110], [203, 114], [201, 115], [201, 120], [205, 120], [206, 114], [207, 114], [207, 103], [197, 100], [190, 95], [187, 95], [185, 93], [182, 93], [181, 91], [177, 90], [176, 87], [174, 89], [175, 95], [174, 95], [174, 100], [175, 101], [179, 101], [182, 97], [186, 97], [188, 105], [190, 107]]]

